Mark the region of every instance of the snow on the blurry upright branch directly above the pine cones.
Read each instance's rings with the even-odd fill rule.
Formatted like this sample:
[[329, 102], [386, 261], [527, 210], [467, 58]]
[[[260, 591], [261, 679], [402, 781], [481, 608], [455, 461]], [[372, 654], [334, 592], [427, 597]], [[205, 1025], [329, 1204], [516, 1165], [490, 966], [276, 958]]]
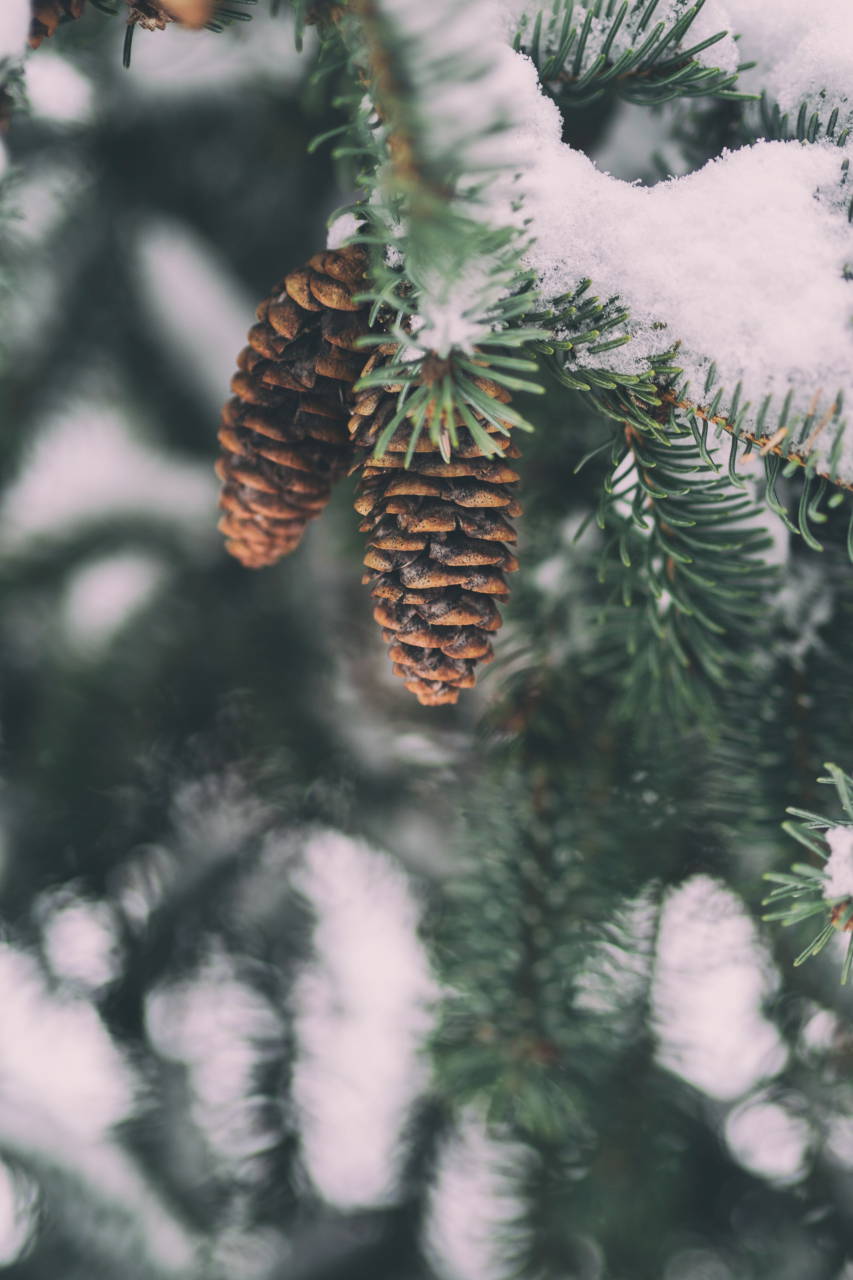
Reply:
[[[403, 269], [394, 302], [412, 316], [406, 339], [414, 356], [470, 352], [503, 326], [519, 287], [516, 104], [556, 109], [487, 0], [360, 0], [355, 12], [380, 161], [365, 215]], [[489, 198], [498, 180], [508, 191]]]

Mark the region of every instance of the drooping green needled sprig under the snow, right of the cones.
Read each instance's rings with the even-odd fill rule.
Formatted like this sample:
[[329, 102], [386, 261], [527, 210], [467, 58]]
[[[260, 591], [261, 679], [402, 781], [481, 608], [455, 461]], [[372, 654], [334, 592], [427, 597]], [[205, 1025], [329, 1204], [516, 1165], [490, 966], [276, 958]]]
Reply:
[[768, 538], [701, 435], [644, 435], [626, 422], [611, 457], [599, 579], [615, 590], [592, 666], [621, 667], [628, 648], [624, 710], [653, 704], [686, 722], [748, 672]]

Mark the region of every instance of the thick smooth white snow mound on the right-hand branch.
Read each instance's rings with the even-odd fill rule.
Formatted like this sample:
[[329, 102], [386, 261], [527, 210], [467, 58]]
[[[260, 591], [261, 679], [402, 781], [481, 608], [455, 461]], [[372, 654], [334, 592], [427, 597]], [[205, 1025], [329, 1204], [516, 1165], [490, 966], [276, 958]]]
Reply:
[[744, 429], [771, 420], [767, 397], [774, 421], [788, 403], [790, 448], [853, 481], [853, 438], [840, 435], [853, 397], [849, 150], [760, 142], [640, 188], [555, 133], [540, 137], [524, 191], [526, 261], [544, 300], [588, 278], [628, 310], [610, 337], [630, 340], [574, 347], [570, 366], [637, 375], [678, 344], [681, 398], [707, 404], [706, 388], [722, 387], [716, 408], [736, 396]]

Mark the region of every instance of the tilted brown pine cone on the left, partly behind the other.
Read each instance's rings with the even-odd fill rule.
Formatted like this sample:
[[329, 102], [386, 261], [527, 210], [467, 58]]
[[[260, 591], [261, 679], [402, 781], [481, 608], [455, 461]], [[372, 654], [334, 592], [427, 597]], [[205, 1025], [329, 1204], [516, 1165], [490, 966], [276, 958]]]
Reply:
[[351, 387], [365, 360], [356, 343], [368, 332], [352, 296], [365, 266], [356, 246], [315, 253], [261, 302], [238, 357], [216, 471], [219, 527], [247, 568], [292, 552], [347, 470]]

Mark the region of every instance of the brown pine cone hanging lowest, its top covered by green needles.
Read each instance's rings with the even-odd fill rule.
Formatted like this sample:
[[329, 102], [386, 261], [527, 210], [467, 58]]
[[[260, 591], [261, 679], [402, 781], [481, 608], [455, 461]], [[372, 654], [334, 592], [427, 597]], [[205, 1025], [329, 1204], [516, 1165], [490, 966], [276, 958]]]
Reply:
[[[510, 399], [491, 379], [478, 385], [501, 403]], [[519, 451], [478, 415], [497, 456], [484, 457], [460, 422], [450, 461], [424, 431], [405, 467], [407, 424], [375, 458], [371, 451], [396, 407], [393, 389], [370, 388], [356, 397], [350, 419], [365, 454], [356, 499], [368, 534], [364, 581], [377, 599], [374, 617], [394, 675], [425, 707], [438, 707], [455, 703], [474, 685], [476, 663], [492, 659], [489, 635], [501, 626], [497, 602], [507, 598], [503, 575], [519, 567], [507, 547], [516, 540], [508, 517], [521, 515], [512, 495], [519, 476], [506, 461]]]

